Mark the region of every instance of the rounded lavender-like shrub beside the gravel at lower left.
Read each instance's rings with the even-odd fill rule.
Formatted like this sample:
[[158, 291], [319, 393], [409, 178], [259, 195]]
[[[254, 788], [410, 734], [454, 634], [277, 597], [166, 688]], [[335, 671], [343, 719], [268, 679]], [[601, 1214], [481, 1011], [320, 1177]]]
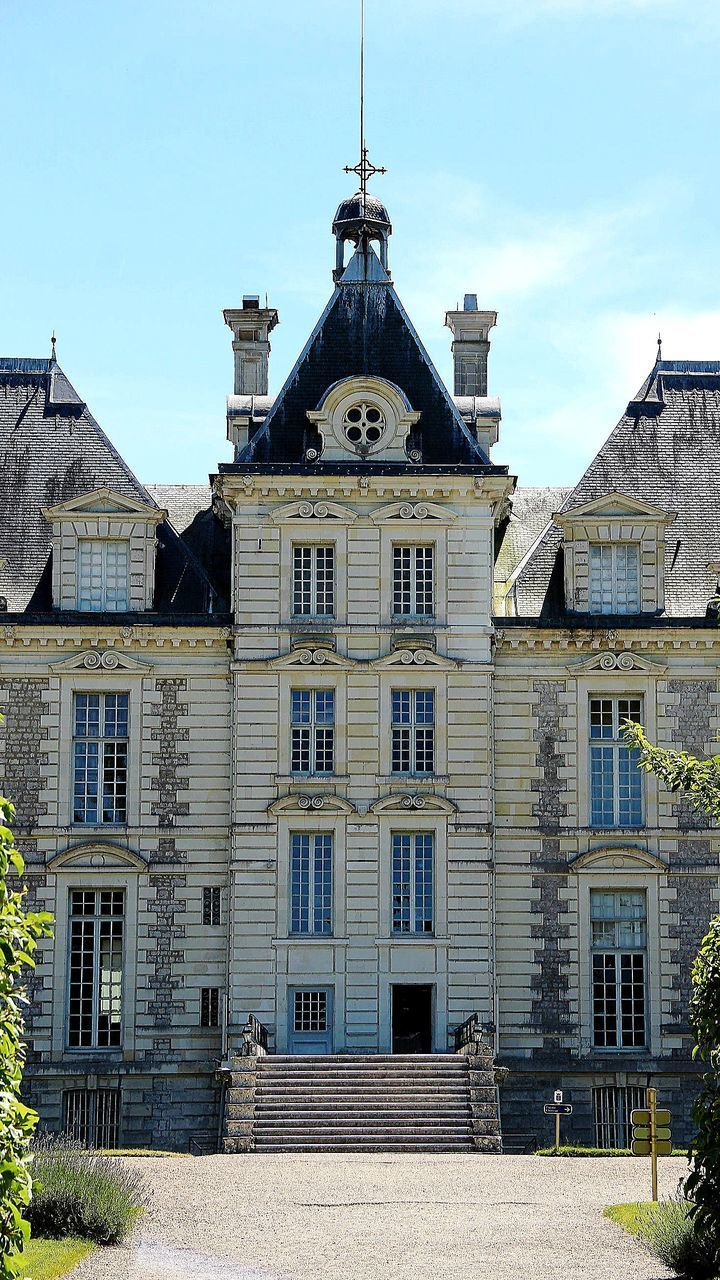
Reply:
[[141, 1175], [119, 1160], [53, 1135], [37, 1138], [33, 1155], [28, 1210], [33, 1235], [81, 1235], [97, 1244], [118, 1244], [147, 1207]]

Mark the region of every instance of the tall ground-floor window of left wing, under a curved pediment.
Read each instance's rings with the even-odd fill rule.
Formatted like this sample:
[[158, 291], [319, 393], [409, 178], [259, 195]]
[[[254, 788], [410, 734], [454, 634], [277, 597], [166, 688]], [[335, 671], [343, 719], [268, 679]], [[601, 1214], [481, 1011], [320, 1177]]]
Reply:
[[124, 892], [70, 891], [70, 1048], [122, 1043]]

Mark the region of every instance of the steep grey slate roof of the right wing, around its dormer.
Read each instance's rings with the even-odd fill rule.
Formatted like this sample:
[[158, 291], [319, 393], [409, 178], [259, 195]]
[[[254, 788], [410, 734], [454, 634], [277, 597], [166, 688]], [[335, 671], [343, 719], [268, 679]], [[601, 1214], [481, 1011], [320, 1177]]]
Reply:
[[[708, 564], [720, 562], [720, 361], [659, 361], [556, 509], [614, 490], [678, 513], [666, 532], [665, 617], [705, 618], [719, 577]], [[551, 524], [518, 577], [518, 614], [564, 617], [561, 558]]]

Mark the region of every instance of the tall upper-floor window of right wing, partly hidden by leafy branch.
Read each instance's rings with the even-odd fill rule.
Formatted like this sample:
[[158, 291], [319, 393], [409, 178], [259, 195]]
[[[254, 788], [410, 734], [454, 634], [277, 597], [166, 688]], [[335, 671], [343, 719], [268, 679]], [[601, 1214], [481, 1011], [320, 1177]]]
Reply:
[[591, 826], [642, 827], [643, 785], [623, 722], [642, 719], [639, 698], [591, 698]]

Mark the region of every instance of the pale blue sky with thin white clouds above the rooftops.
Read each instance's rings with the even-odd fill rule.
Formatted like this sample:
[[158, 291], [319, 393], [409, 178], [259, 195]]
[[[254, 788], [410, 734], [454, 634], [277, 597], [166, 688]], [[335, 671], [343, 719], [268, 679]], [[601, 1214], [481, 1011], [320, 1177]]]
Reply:
[[[495, 449], [569, 484], [647, 374], [720, 358], [716, 0], [366, 0], [398, 293], [496, 308]], [[0, 352], [59, 360], [146, 481], [229, 460], [242, 293], [278, 390], [357, 159], [356, 0], [0, 0]]]

